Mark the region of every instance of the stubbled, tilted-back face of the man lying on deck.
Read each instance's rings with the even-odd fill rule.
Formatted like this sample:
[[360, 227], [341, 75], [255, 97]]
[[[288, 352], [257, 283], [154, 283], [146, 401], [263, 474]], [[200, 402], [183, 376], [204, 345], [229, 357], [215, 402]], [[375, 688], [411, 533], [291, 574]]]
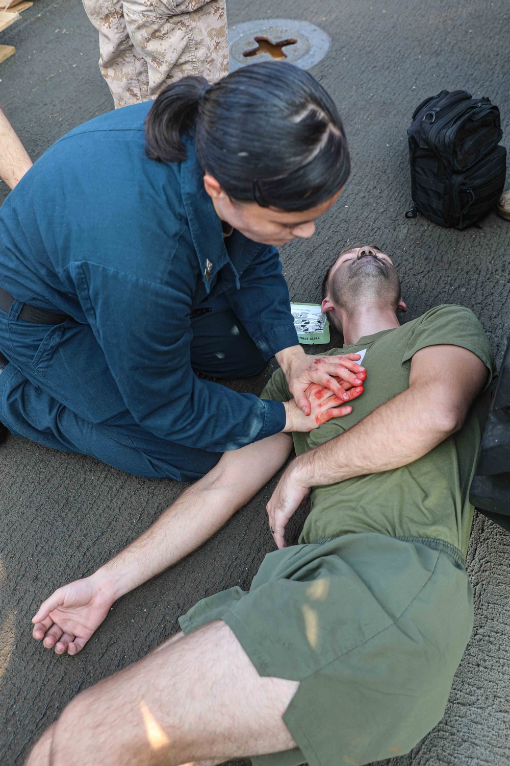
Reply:
[[374, 245], [344, 250], [323, 287], [322, 309], [342, 329], [342, 314], [355, 311], [405, 311], [400, 280], [391, 258]]

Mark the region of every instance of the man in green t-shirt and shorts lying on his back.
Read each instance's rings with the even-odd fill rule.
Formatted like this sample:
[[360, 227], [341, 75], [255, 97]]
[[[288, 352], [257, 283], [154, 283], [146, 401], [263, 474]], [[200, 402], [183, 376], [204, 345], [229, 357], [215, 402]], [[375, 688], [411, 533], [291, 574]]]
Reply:
[[[294, 440], [297, 457], [268, 503], [279, 549], [249, 592], [203, 599], [180, 618], [183, 633], [81, 692], [30, 766], [245, 756], [352, 766], [405, 753], [437, 724], [473, 626], [468, 491], [495, 368], [469, 309], [438, 306], [403, 326], [398, 309], [387, 255], [368, 246], [341, 254], [323, 310], [343, 331], [341, 352], [365, 352], [356, 408], [310, 434], [225, 453], [141, 538], [44, 601], [34, 637], [76, 653], [115, 599], [248, 502]], [[289, 398], [280, 371], [262, 395]], [[284, 547], [310, 489], [299, 545]]]

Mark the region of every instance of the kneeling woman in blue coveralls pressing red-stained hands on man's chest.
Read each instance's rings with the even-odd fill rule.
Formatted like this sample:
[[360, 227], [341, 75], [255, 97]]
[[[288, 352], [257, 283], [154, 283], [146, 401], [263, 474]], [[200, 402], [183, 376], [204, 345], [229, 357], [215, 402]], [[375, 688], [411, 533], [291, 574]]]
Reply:
[[[63, 136], [0, 211], [3, 434], [188, 480], [315, 427], [307, 386], [343, 404], [364, 373], [304, 354], [274, 245], [310, 237], [348, 175], [333, 101], [290, 64], [186, 77]], [[273, 355], [295, 404], [193, 372]]]

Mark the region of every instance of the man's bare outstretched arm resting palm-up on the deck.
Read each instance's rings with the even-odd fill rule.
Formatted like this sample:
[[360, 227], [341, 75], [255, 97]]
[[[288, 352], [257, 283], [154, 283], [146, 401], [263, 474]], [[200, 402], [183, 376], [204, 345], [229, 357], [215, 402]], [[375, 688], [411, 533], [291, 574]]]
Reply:
[[226, 452], [131, 545], [93, 575], [59, 588], [39, 607], [33, 636], [58, 654], [78, 653], [123, 594], [199, 548], [280, 470], [292, 439], [274, 434]]

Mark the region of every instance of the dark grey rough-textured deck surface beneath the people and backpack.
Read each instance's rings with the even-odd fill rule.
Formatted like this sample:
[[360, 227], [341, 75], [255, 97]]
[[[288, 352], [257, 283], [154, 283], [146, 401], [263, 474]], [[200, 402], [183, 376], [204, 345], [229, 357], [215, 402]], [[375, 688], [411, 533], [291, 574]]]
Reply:
[[[312, 21], [333, 43], [313, 74], [339, 104], [352, 177], [309, 241], [282, 250], [294, 300], [318, 300], [323, 270], [350, 241], [373, 241], [401, 272], [408, 319], [438, 303], [479, 316], [499, 361], [510, 329], [510, 223], [447, 231], [410, 202], [405, 129], [414, 107], [441, 88], [489, 96], [510, 131], [505, 0], [229, 0], [229, 23]], [[77, 124], [109, 110], [97, 69], [96, 31], [79, 0], [35, 0], [0, 34], [15, 56], [0, 66], [0, 105], [33, 157]], [[505, 134], [503, 143], [508, 143]], [[0, 189], [2, 198], [6, 188]], [[261, 390], [262, 379], [240, 384]], [[11, 437], [0, 451], [0, 763], [22, 764], [31, 745], [80, 689], [143, 656], [177, 630], [197, 599], [248, 586], [273, 548], [270, 486], [187, 561], [119, 601], [76, 658], [31, 640], [30, 619], [54, 588], [92, 572], [145, 529], [183, 489], [125, 476], [95, 460]], [[300, 518], [294, 519], [294, 530]], [[440, 725], [392, 766], [510, 763], [510, 535], [479, 516], [469, 551], [475, 630]]]

